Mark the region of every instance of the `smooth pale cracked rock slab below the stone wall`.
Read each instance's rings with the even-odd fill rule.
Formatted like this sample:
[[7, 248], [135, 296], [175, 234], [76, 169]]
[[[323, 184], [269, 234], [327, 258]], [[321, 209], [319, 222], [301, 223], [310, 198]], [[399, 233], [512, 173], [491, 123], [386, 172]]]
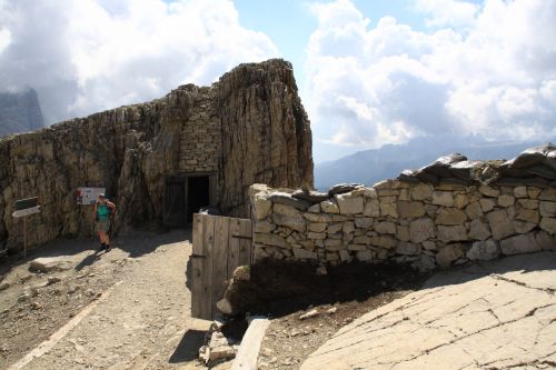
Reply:
[[301, 369], [553, 368], [554, 266], [545, 252], [439, 273], [341, 328]]

